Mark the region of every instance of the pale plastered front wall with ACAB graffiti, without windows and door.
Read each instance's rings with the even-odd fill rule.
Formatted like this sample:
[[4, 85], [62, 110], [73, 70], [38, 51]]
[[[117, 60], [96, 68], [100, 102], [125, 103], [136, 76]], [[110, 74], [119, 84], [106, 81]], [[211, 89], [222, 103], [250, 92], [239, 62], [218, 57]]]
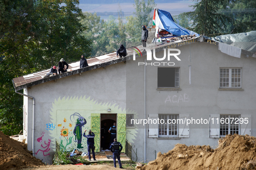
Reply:
[[[76, 147], [72, 134], [76, 125], [74, 113], [87, 120], [84, 129], [91, 128], [93, 114], [134, 113], [135, 119], [148, 118], [150, 114], [187, 114], [194, 119], [209, 119], [209, 114], [250, 114], [255, 121], [254, 96], [256, 96], [256, 59], [235, 58], [221, 53], [218, 47], [207, 43], [194, 43], [178, 47], [181, 61], [171, 57], [163, 62], [173, 62], [180, 67], [180, 89], [158, 90], [158, 66], [138, 66], [146, 56], [68, 76], [57, 81], [46, 82], [26, 89], [27, 94], [36, 100], [35, 152], [43, 162], [52, 163], [55, 153], [55, 139], [68, 148]], [[163, 56], [163, 51], [156, 54]], [[191, 61], [189, 60], [191, 56]], [[146, 61], [147, 63], [159, 61]], [[191, 84], [189, 84], [191, 66]], [[220, 91], [220, 67], [242, 68], [243, 91]], [[146, 69], [146, 74], [144, 74]], [[144, 78], [145, 76], [145, 78]], [[146, 83], [146, 86], [144, 86]], [[146, 94], [144, 93], [146, 91]], [[146, 95], [146, 102], [144, 102]], [[175, 101], [170, 100], [173, 96]], [[24, 98], [26, 105], [27, 142], [32, 150], [32, 100]], [[145, 108], [146, 107], [146, 110]], [[73, 115], [73, 116], [72, 116]], [[26, 122], [25, 121], [25, 122]], [[54, 126], [55, 125], [55, 126]], [[58, 126], [59, 125], [59, 126]], [[49, 128], [48, 126], [52, 126]], [[53, 126], [55, 128], [53, 128]], [[209, 124], [189, 126], [189, 138], [148, 138], [148, 126], [136, 124], [126, 129], [126, 139], [135, 145], [138, 161], [152, 161], [157, 152], [167, 152], [177, 143], [185, 145], [210, 145], [216, 148], [218, 139], [209, 138]], [[69, 134], [63, 136], [63, 129]], [[255, 126], [252, 135], [256, 135]], [[73, 136], [72, 139], [70, 139]], [[71, 141], [71, 144], [68, 142]], [[67, 145], [68, 144], [68, 145]], [[86, 150], [86, 139], [82, 139]], [[49, 147], [47, 151], [45, 148]], [[145, 157], [146, 155], [146, 157]], [[135, 154], [133, 153], [133, 157]]]

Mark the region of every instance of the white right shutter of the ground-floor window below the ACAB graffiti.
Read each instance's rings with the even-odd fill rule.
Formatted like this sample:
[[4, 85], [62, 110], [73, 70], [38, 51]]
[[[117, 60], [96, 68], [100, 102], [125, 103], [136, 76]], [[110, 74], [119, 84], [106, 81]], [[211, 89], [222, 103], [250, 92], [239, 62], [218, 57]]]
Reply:
[[178, 121], [178, 136], [179, 138], [189, 138], [189, 124], [187, 125], [187, 120], [189, 119], [189, 114], [179, 114]]

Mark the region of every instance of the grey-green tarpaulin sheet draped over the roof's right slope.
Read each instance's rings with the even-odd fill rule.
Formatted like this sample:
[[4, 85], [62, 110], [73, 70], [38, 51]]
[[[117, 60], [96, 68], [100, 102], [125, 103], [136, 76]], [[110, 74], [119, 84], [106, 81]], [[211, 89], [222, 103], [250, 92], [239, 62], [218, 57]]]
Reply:
[[256, 31], [205, 38], [256, 53]]

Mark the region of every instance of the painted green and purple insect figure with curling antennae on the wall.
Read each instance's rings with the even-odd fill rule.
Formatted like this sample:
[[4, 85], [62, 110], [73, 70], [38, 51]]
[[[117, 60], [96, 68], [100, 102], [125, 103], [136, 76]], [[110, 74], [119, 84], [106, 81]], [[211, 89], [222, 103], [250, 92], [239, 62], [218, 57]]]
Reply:
[[[76, 119], [76, 125], [73, 131], [73, 134], [75, 135], [75, 142], [78, 142], [78, 146], [77, 148], [84, 148], [82, 147], [82, 127], [84, 127], [84, 125], [86, 124], [86, 120], [84, 119], [83, 116], [81, 116], [79, 113], [74, 113], [70, 116], [70, 120], [71, 117], [73, 116], [73, 120], [75, 120], [75, 116], [78, 116], [78, 118]], [[71, 122], [73, 122], [71, 120]]]

